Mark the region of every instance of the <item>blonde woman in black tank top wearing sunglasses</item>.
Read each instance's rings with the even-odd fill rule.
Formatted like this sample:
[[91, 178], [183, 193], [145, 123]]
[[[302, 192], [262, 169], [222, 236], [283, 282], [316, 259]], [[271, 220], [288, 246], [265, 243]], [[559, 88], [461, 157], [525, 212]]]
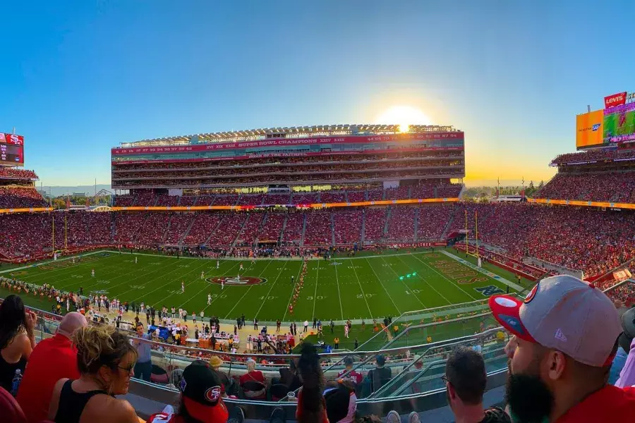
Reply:
[[60, 379], [53, 389], [49, 419], [55, 423], [138, 422], [133, 407], [115, 395], [128, 393], [137, 351], [111, 326], [73, 333], [80, 378]]

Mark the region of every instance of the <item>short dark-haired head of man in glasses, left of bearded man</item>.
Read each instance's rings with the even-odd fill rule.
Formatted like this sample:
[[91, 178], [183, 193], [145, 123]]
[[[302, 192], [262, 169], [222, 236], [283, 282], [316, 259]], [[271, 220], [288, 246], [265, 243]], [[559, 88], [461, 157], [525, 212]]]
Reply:
[[449, 353], [445, 365], [447, 402], [457, 418], [476, 412], [481, 413], [480, 419], [483, 419], [483, 393], [487, 381], [482, 355], [466, 347]]

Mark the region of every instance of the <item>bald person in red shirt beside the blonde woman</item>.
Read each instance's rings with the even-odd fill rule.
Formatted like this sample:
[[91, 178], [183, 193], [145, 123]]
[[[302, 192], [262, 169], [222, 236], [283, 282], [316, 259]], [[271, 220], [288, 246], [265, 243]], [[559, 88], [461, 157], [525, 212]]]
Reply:
[[71, 336], [83, 326], [87, 326], [87, 321], [82, 314], [67, 313], [55, 336], [35, 345], [16, 398], [27, 422], [40, 423], [47, 419], [49, 400], [59, 379], [79, 378], [77, 350], [71, 344]]

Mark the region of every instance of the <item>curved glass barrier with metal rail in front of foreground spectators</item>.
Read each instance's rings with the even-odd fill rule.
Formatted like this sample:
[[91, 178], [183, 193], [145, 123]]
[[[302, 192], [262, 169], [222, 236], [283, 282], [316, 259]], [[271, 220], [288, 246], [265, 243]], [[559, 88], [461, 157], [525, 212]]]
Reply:
[[[44, 339], [52, 336], [61, 317], [56, 314], [33, 309], [38, 314], [37, 338]], [[390, 336], [382, 341], [380, 348], [367, 351], [320, 353], [325, 379], [336, 381], [337, 379], [349, 379], [357, 382], [358, 398], [392, 398], [407, 389], [416, 392], [417, 389], [434, 388], [436, 381], [434, 376], [442, 372], [443, 363], [447, 352], [456, 345], [466, 345], [471, 348], [480, 348], [485, 353], [497, 351], [498, 357], [502, 353], [506, 334], [499, 327], [490, 327], [483, 332], [473, 333], [473, 329], [479, 327], [480, 322], [493, 321], [489, 314], [477, 314], [475, 316], [448, 319], [439, 323], [430, 322], [424, 324], [410, 324], [396, 336]], [[476, 321], [476, 324], [472, 322]], [[95, 323], [95, 322], [93, 322]], [[97, 323], [98, 324], [98, 323]], [[112, 324], [112, 322], [111, 322]], [[464, 325], [466, 336], [451, 339], [441, 339], [435, 342], [425, 343], [423, 336], [441, 333], [456, 333], [443, 329], [444, 326]], [[436, 329], [435, 329], [436, 328]], [[434, 331], [438, 331], [436, 334]], [[248, 400], [288, 401], [288, 394], [296, 392], [301, 386], [295, 363], [299, 355], [250, 355], [240, 353], [219, 353], [205, 348], [195, 348], [186, 345], [172, 345], [159, 342], [155, 339], [138, 338], [136, 333], [126, 331], [132, 343], [150, 345], [152, 360], [152, 374], [148, 382], [159, 384], [165, 388], [176, 390], [179, 385], [183, 369], [194, 360], [210, 362], [212, 357], [217, 357], [219, 371], [222, 372], [225, 392], [227, 396], [235, 396]], [[418, 343], [415, 343], [418, 341]], [[379, 355], [382, 356], [379, 359]], [[346, 357], [351, 357], [352, 364]], [[495, 358], [493, 357], [493, 358]], [[262, 390], [253, 391], [253, 386], [246, 384], [250, 376], [243, 377], [247, 373], [246, 361], [253, 358], [256, 372], [262, 374], [265, 381]], [[378, 365], [377, 360], [385, 360], [385, 365]], [[344, 363], [348, 362], [348, 366]], [[378, 368], [384, 368], [382, 372], [389, 371], [390, 377], [386, 383], [376, 383], [375, 375]], [[425, 372], [422, 369], [427, 369]], [[253, 376], [253, 374], [252, 374]], [[260, 378], [260, 376], [258, 376]], [[253, 384], [252, 384], [253, 385]], [[406, 388], [410, 386], [411, 388]], [[403, 388], [403, 389], [402, 389]], [[410, 391], [408, 391], [410, 392]], [[291, 400], [297, 398], [291, 396]]]

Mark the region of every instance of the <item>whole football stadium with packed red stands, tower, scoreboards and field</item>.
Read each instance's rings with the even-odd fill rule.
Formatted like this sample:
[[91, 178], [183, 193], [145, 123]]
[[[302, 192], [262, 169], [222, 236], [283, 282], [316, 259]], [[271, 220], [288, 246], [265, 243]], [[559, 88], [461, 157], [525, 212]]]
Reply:
[[[295, 388], [276, 375], [307, 342], [327, 379], [355, 375], [358, 412], [414, 401], [425, 415], [456, 345], [504, 383], [492, 295], [571, 274], [635, 305], [635, 149], [580, 127], [605, 114], [615, 125], [606, 111], [578, 116], [579, 152], [555, 157], [556, 176], [519, 202], [463, 199], [465, 135], [452, 126], [318, 125], [125, 142], [111, 149], [113, 192], [54, 209], [37, 173], [14, 166], [24, 138], [4, 134], [16, 155], [0, 168], [0, 294], [37, 311], [40, 339], [71, 311], [133, 338], [147, 324], [140, 417], [192, 360], [214, 357], [231, 375], [226, 403], [255, 419], [291, 410]], [[381, 383], [377, 352], [392, 372]], [[269, 381], [244, 383], [250, 357]]]

